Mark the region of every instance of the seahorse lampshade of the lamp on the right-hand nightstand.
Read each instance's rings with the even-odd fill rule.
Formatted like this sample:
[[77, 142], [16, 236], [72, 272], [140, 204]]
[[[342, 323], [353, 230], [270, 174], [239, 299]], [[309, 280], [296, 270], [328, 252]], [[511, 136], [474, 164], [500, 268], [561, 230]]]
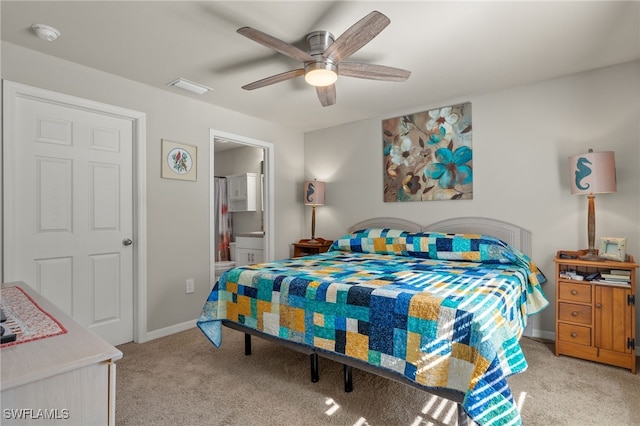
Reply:
[[616, 192], [616, 163], [612, 151], [569, 157], [572, 194]]

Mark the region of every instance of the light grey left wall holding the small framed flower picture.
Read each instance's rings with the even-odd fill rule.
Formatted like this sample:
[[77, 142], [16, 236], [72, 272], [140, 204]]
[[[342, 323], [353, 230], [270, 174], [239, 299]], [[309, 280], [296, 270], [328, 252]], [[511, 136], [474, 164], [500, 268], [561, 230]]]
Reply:
[[[6, 42], [2, 78], [146, 113], [147, 331], [193, 321], [208, 294], [210, 128], [274, 145], [275, 257], [287, 257], [291, 242], [300, 238], [295, 183], [303, 180], [301, 132]], [[160, 178], [163, 138], [198, 147], [197, 182]], [[187, 278], [195, 279], [193, 294], [185, 294]]]

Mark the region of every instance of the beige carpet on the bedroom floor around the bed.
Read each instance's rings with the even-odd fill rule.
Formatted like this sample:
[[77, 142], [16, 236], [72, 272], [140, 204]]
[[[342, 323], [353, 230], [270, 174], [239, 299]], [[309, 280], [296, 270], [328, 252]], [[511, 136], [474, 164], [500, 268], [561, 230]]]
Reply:
[[[638, 425], [640, 374], [569, 357], [528, 338], [529, 369], [509, 378], [525, 425]], [[224, 328], [216, 349], [198, 329], [119, 347], [116, 425], [455, 425], [455, 404]]]

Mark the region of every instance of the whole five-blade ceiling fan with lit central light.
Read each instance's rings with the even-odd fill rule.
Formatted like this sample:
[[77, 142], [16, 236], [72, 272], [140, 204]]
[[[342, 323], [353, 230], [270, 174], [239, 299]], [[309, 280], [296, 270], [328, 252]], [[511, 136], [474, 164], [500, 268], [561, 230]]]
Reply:
[[411, 75], [411, 71], [385, 65], [342, 62], [380, 34], [390, 22], [391, 20], [382, 13], [373, 11], [349, 27], [337, 39], [328, 31], [314, 31], [306, 36], [308, 52], [262, 31], [242, 27], [238, 29], [239, 34], [304, 63], [303, 68], [272, 75], [242, 88], [259, 89], [304, 75], [305, 81], [316, 87], [322, 106], [329, 106], [336, 103], [334, 83], [338, 75], [369, 80], [405, 81]]

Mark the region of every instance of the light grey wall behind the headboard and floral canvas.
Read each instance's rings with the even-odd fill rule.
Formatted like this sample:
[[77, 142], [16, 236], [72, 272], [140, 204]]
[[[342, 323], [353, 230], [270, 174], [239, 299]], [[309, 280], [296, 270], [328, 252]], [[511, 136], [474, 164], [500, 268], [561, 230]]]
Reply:
[[[473, 110], [473, 200], [384, 203], [381, 120], [467, 101]], [[327, 182], [326, 205], [316, 210], [316, 235], [336, 238], [349, 225], [376, 216], [425, 225], [453, 216], [489, 216], [521, 225], [533, 232], [533, 259], [549, 279], [544, 290], [552, 302], [533, 326], [550, 337], [553, 256], [587, 247], [587, 200], [570, 195], [568, 157], [589, 148], [615, 151], [618, 179], [617, 193], [596, 197], [596, 241], [626, 237], [637, 261], [640, 61], [306, 134], [305, 178]]]

